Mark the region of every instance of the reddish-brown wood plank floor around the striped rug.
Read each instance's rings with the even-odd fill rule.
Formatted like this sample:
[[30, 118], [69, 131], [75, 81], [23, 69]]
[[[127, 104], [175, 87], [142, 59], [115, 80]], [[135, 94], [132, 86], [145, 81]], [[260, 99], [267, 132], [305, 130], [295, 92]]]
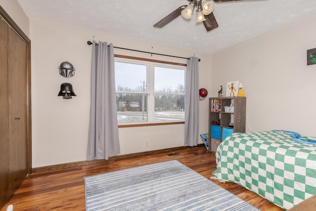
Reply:
[[[5, 211], [10, 204], [14, 206], [14, 211], [84, 211], [85, 193], [83, 178], [99, 173], [169, 160], [178, 160], [208, 179], [212, 176], [212, 171], [216, 169], [215, 154], [208, 152], [205, 147], [180, 149], [174, 151], [174, 153], [180, 154], [168, 156], [167, 154], [170, 154], [170, 152], [162, 152], [137, 158], [33, 173], [22, 182], [0, 211]], [[222, 183], [215, 179], [210, 180], [262, 211], [283, 211], [281, 208], [235, 183]]]

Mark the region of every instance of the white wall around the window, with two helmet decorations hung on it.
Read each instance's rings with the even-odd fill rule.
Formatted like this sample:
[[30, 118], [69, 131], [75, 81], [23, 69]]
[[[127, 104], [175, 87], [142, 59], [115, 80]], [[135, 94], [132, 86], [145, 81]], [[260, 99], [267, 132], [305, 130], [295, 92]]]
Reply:
[[[197, 56], [200, 87], [209, 89], [209, 54], [157, 43], [119, 38], [83, 29], [30, 22], [32, 40], [32, 167], [43, 167], [86, 159], [92, 46], [87, 41], [112, 42], [114, 46], [176, 55]], [[153, 47], [153, 48], [152, 48]], [[115, 48], [116, 54], [186, 63], [175, 59]], [[58, 73], [63, 61], [71, 62], [76, 74], [64, 78]], [[62, 83], [73, 84], [77, 94], [65, 100], [57, 94]], [[207, 132], [207, 100], [200, 102], [200, 133]], [[119, 128], [121, 154], [178, 147], [184, 145], [184, 125]], [[201, 140], [199, 139], [200, 143]], [[149, 147], [145, 147], [149, 142]]]

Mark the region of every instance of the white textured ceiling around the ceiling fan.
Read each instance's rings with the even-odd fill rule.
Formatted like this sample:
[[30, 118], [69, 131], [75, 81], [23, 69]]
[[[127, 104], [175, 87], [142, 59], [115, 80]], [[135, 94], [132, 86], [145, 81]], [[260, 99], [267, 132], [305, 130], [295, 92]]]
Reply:
[[[316, 14], [316, 0], [241, 0], [214, 3], [219, 27], [182, 16], [154, 28], [187, 0], [18, 0], [30, 20], [212, 53]], [[110, 41], [111, 42], [111, 41]]]

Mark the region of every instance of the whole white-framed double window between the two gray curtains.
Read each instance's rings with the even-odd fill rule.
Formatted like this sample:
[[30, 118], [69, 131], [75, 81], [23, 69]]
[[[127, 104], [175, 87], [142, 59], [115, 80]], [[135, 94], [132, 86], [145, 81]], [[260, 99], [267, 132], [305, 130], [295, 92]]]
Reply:
[[185, 69], [116, 58], [118, 124], [183, 122]]

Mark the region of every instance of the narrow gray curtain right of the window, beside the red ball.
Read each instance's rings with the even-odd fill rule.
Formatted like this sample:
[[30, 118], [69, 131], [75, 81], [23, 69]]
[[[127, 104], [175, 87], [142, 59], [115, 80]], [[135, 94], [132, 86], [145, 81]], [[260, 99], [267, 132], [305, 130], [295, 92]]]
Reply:
[[198, 58], [190, 57], [186, 71], [184, 143], [189, 146], [198, 144]]

